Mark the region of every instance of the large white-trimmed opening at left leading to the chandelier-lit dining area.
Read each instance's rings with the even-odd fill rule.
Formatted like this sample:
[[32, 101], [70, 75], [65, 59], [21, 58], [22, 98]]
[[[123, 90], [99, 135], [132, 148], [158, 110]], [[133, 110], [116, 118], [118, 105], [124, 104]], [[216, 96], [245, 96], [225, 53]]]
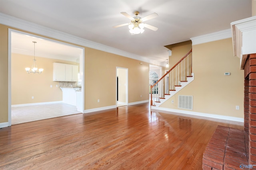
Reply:
[[[32, 41], [36, 41], [34, 45]], [[35, 50], [34, 50], [35, 49]], [[25, 70], [26, 67], [30, 67], [32, 59], [35, 55], [38, 68], [44, 68], [42, 74], [28, 74]], [[40, 119], [47, 119], [50, 113], [48, 111], [38, 115], [37, 119], [30, 120], [16, 119], [18, 121], [12, 121], [12, 118], [21, 115], [15, 115], [14, 113], [22, 112], [31, 113], [36, 117], [42, 109], [48, 108], [48, 110], [54, 110], [56, 107], [65, 107], [66, 112], [64, 115], [83, 113], [84, 112], [84, 48], [60, 41], [40, 37], [34, 34], [9, 29], [8, 39], [8, 124], [18, 124], [28, 121], [35, 121]], [[76, 90], [80, 90], [81, 93], [79, 100], [76, 100], [76, 106], [61, 106], [62, 90], [60, 90], [60, 82], [53, 81], [53, 63], [64, 64], [76, 64], [78, 66], [78, 72], [80, 73], [79, 84], [77, 82], [65, 82], [66, 84], [75, 87]], [[78, 75], [77, 75], [78, 76]], [[79, 88], [80, 85], [80, 88]], [[74, 90], [74, 94], [76, 91]], [[60, 96], [61, 95], [61, 96]], [[56, 96], [59, 96], [58, 99]], [[77, 104], [80, 106], [79, 109]], [[53, 106], [55, 105], [55, 106]], [[59, 106], [60, 105], [60, 106]], [[64, 105], [64, 104], [63, 104]], [[48, 106], [48, 107], [47, 107]], [[25, 110], [25, 107], [28, 110]], [[74, 111], [68, 110], [72, 107]], [[73, 108], [74, 107], [74, 108]], [[33, 109], [35, 109], [33, 111]], [[17, 112], [18, 111], [18, 112]], [[60, 111], [56, 111], [55, 117], [63, 116]], [[46, 116], [44, 118], [44, 115]], [[50, 116], [50, 115], [49, 115]]]

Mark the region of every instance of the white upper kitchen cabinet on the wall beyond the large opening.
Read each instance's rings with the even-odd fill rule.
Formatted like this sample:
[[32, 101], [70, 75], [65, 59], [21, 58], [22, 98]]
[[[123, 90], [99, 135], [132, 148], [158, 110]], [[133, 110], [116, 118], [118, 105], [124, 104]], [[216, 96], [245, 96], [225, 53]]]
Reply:
[[53, 81], [78, 81], [78, 65], [53, 63]]

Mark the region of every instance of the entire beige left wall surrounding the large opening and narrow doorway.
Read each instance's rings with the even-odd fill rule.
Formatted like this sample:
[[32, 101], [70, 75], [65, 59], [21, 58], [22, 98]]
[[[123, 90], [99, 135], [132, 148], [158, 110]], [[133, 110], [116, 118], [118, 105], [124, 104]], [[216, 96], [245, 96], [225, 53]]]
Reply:
[[[15, 29], [0, 24], [0, 71], [3, 73], [0, 74], [0, 123], [8, 122], [8, 28]], [[83, 47], [81, 45], [78, 46]], [[85, 109], [116, 105], [116, 66], [128, 68], [128, 103], [148, 100], [148, 63], [142, 62], [143, 64], [141, 65], [141, 61], [135, 59], [88, 47], [84, 48], [85, 84], [83, 88]], [[27, 98], [31, 98], [31, 95], [29, 94]], [[100, 99], [100, 102], [97, 102], [98, 99]]]

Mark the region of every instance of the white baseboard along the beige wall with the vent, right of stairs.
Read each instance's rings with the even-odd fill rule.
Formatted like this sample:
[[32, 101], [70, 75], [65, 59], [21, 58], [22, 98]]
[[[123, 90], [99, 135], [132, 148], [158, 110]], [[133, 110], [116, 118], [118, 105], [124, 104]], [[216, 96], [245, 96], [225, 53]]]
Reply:
[[[195, 115], [195, 116], [201, 116], [201, 117], [210, 117], [210, 118], [214, 118], [214, 119], [244, 122], [244, 118], [240, 118], [240, 117], [215, 115], [215, 114], [210, 114], [210, 113], [200, 113], [200, 112], [196, 112], [196, 111], [186, 111], [186, 110], [179, 110], [179, 109], [169, 109], [169, 108], [164, 108], [164, 107], [158, 107], [156, 110], [170, 111], [170, 112], [182, 113], [182, 114], [186, 114], [186, 115]], [[172, 113], [169, 113], [169, 114], [172, 114]]]

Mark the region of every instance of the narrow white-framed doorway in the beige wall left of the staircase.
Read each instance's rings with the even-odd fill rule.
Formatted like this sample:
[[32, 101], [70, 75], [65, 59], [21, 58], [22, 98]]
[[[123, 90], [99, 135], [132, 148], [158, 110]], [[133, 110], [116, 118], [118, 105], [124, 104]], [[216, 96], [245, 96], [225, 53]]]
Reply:
[[116, 107], [128, 105], [128, 68], [116, 67]]

